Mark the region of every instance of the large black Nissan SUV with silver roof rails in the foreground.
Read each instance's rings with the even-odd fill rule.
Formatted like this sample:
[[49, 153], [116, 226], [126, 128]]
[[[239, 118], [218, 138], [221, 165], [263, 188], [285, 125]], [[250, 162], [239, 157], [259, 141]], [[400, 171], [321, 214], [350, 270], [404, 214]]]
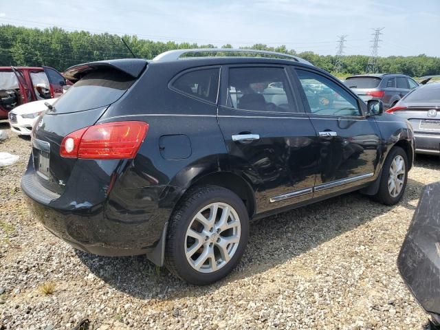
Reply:
[[406, 120], [300, 58], [238, 52], [67, 69], [76, 83], [37, 120], [21, 181], [43, 225], [203, 285], [239, 262], [250, 219], [360, 189], [399, 201], [414, 155]]

